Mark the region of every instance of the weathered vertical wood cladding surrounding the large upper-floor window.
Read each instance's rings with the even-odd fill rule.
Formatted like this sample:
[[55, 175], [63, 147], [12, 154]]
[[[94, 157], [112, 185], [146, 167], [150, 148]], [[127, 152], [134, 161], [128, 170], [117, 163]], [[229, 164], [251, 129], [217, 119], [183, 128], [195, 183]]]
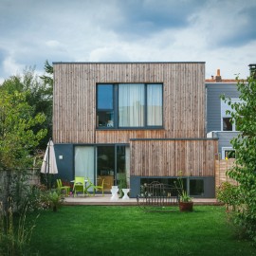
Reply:
[[[204, 63], [54, 64], [56, 143], [129, 143], [130, 138], [205, 137]], [[97, 82], [163, 82], [161, 130], [96, 130]]]

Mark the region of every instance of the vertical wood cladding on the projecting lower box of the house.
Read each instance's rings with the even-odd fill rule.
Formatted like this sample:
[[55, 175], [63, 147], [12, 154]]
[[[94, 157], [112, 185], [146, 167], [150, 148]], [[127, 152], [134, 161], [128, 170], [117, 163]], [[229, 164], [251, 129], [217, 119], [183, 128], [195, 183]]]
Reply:
[[131, 175], [214, 176], [217, 140], [166, 139], [131, 141]]

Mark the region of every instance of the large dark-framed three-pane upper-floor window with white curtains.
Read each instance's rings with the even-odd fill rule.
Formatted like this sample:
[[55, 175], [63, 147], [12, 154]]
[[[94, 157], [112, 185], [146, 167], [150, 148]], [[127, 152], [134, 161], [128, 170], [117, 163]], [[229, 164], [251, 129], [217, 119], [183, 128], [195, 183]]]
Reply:
[[162, 127], [162, 90], [161, 83], [98, 84], [97, 127]]

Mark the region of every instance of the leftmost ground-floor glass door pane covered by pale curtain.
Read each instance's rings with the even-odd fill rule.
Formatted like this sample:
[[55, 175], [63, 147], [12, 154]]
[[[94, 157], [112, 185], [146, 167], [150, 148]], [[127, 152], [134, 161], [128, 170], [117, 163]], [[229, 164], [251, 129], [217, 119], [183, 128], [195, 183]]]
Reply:
[[75, 176], [94, 180], [94, 147], [75, 147]]

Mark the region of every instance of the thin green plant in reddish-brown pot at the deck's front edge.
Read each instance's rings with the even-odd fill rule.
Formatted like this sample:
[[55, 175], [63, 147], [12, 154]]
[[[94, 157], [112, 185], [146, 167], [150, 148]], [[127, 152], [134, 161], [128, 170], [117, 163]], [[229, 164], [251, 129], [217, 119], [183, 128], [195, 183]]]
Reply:
[[177, 178], [178, 187], [176, 185], [176, 182], [174, 182], [175, 187], [179, 194], [179, 210], [180, 211], [192, 211], [193, 208], [193, 202], [192, 197], [188, 194], [187, 191], [184, 190], [183, 187], [183, 181], [182, 181], [182, 172], [179, 172], [179, 177]]

